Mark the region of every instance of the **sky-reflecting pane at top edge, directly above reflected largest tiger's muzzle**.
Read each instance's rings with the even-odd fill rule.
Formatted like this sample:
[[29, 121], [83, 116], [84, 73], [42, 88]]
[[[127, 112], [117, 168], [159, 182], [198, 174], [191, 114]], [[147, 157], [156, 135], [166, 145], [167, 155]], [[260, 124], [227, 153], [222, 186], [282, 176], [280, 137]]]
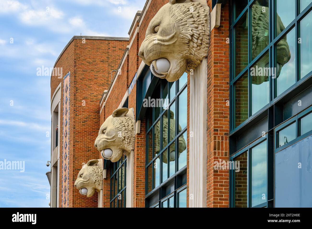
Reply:
[[294, 0], [276, 0], [276, 36], [295, 19]]

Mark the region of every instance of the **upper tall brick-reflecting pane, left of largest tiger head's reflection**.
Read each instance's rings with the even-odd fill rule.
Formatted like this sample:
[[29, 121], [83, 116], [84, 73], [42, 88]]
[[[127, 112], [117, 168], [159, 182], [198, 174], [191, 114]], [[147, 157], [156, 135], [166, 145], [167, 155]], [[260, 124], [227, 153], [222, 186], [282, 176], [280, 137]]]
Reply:
[[248, 65], [248, 13], [235, 27], [235, 76]]

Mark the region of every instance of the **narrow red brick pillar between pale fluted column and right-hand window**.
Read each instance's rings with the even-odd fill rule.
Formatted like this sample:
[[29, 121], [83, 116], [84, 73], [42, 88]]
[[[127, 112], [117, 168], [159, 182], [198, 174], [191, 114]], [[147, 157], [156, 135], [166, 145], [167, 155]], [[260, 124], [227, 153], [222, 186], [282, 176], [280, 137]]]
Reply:
[[[207, 1], [210, 11], [212, 1]], [[229, 160], [229, 4], [221, 8], [219, 28], [210, 35], [207, 76], [207, 207], [229, 206], [229, 171], [214, 161]]]

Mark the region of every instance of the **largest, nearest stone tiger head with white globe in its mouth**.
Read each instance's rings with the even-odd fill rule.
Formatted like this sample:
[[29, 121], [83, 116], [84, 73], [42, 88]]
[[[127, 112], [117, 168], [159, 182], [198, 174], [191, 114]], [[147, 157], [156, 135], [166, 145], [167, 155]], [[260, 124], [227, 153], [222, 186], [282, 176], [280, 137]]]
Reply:
[[207, 56], [209, 34], [206, 0], [170, 0], [149, 23], [139, 56], [155, 76], [173, 82]]

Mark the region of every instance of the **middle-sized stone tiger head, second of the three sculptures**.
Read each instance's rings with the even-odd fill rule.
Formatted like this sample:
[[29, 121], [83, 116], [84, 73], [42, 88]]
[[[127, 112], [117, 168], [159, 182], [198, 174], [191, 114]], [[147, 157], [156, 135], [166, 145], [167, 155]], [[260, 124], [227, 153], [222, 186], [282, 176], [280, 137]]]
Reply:
[[119, 108], [105, 120], [94, 144], [104, 159], [116, 162], [134, 149], [134, 125], [133, 108]]

